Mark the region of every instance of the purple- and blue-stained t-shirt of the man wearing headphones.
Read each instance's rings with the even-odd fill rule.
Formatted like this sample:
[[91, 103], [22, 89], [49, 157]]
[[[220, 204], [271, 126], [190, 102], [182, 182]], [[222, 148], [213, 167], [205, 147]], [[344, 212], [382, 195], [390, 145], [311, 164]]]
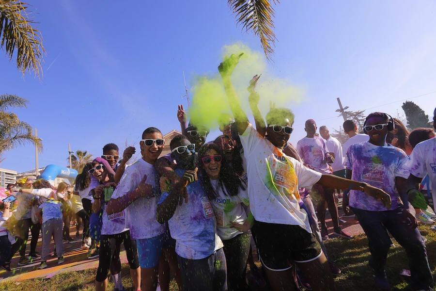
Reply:
[[[407, 155], [398, 147], [389, 144], [375, 146], [364, 142], [348, 148], [343, 165], [353, 171], [352, 180], [368, 183], [388, 193], [392, 200], [390, 209], [393, 210], [401, 203], [395, 187], [395, 177], [405, 179], [409, 177], [407, 161]], [[381, 201], [376, 201], [373, 197], [358, 190], [350, 191], [349, 205], [370, 211], [387, 210]]]

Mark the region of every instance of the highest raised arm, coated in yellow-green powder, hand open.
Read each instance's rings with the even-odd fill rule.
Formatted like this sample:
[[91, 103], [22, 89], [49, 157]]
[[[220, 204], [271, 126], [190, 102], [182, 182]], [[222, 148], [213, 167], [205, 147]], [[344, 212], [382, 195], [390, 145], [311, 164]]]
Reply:
[[221, 78], [224, 83], [224, 89], [227, 95], [227, 100], [229, 101], [230, 108], [232, 109], [236, 128], [239, 134], [244, 133], [245, 129], [247, 129], [249, 125], [249, 120], [247, 118], [247, 114], [245, 114], [242, 110], [241, 104], [239, 104], [239, 100], [236, 97], [236, 92], [234, 91], [232, 81], [230, 81], [230, 76], [232, 75], [236, 65], [239, 63], [239, 58], [242, 56], [242, 54], [243, 53], [239, 55], [233, 54], [230, 56], [230, 58], [226, 57], [224, 61], [218, 66], [218, 71], [221, 74]]

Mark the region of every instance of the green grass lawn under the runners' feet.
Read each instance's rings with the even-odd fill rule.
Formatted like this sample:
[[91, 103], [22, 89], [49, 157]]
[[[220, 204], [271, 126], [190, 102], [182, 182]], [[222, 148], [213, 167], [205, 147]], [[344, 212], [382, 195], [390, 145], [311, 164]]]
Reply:
[[[421, 234], [427, 238], [427, 254], [433, 275], [436, 274], [436, 231], [428, 226], [420, 226]], [[365, 235], [359, 235], [347, 241], [331, 239], [326, 242], [330, 259], [342, 270], [336, 279], [338, 291], [368, 291], [377, 290], [374, 285], [371, 269], [368, 267], [368, 240]], [[407, 268], [407, 258], [403, 248], [395, 242], [388, 256], [387, 273], [392, 290], [411, 290], [408, 287], [408, 277], [400, 275]], [[78, 272], [62, 273], [49, 279], [31, 279], [19, 282], [0, 282], [0, 291], [92, 291], [94, 290], [95, 269]], [[126, 290], [132, 290], [128, 265], [123, 265], [123, 285]], [[109, 291], [113, 284], [109, 282]], [[176, 291], [177, 285], [171, 282], [171, 291]]]

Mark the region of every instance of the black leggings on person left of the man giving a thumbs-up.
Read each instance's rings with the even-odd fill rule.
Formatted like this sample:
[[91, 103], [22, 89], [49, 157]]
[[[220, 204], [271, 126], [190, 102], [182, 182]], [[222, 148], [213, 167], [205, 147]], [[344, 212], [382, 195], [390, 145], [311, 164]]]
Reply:
[[118, 234], [100, 235], [100, 258], [98, 261], [97, 275], [95, 281], [103, 282], [108, 277], [109, 266], [110, 274], [115, 275], [121, 271], [120, 246], [124, 244], [125, 254], [129, 262], [130, 269], [138, 269], [138, 249], [136, 241], [130, 239], [130, 231]]

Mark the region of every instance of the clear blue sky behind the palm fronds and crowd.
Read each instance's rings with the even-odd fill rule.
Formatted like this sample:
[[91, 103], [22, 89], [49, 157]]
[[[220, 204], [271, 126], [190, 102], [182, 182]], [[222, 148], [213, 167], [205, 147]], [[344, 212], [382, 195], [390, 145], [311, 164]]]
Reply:
[[[179, 129], [177, 104], [187, 105], [183, 70], [190, 89], [196, 76], [217, 72], [223, 46], [242, 42], [261, 51], [225, 0], [28, 2], [47, 50], [44, 76], [23, 78], [4, 56], [0, 93], [30, 101], [13, 111], [43, 139], [40, 166], [66, 166], [69, 143], [99, 156], [109, 142], [121, 152], [139, 149], [149, 126]], [[275, 10], [278, 41], [268, 70], [304, 92], [288, 104], [296, 115], [292, 143], [305, 136], [309, 118], [339, 129], [337, 97], [365, 113], [396, 116], [404, 100], [433, 113], [434, 1], [281, 1]], [[1, 168], [35, 167], [30, 144], [3, 158]]]

